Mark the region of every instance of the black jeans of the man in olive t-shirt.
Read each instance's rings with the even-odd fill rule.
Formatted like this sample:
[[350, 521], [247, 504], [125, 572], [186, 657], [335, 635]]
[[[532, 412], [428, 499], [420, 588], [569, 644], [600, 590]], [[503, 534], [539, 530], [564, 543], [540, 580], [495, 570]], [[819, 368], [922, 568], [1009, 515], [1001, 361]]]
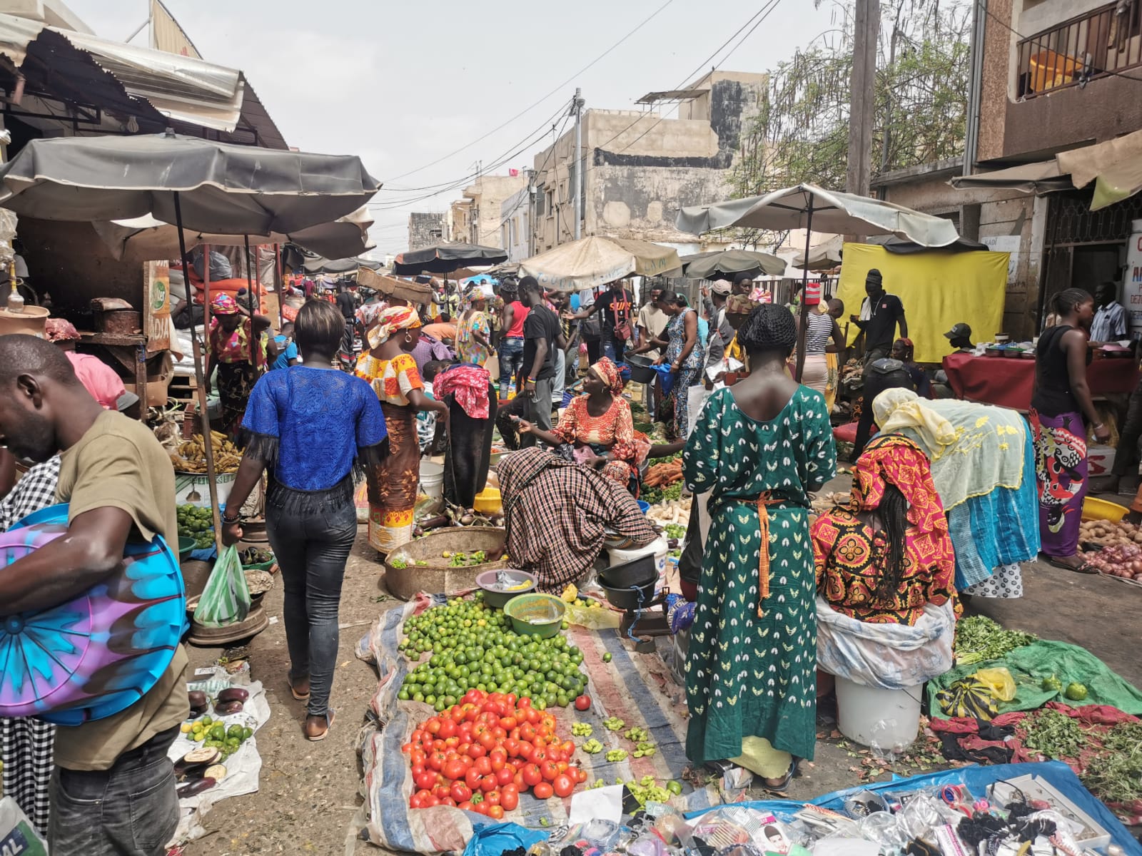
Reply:
[[175, 768], [167, 750], [177, 728], [124, 752], [111, 769], [51, 774], [51, 853], [161, 856], [178, 826]]

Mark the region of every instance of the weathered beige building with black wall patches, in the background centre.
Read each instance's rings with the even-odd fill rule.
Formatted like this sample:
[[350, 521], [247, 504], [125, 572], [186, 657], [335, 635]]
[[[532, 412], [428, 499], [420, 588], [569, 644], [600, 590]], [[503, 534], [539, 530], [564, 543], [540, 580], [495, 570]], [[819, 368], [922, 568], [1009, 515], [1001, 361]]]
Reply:
[[[729, 199], [742, 123], [756, 114], [765, 86], [764, 74], [714, 72], [686, 89], [640, 99], [681, 102], [677, 119], [654, 110], [587, 110], [581, 234], [707, 249], [674, 227], [675, 216], [683, 205]], [[537, 154], [534, 167], [529, 219], [538, 253], [574, 239], [574, 130]]]

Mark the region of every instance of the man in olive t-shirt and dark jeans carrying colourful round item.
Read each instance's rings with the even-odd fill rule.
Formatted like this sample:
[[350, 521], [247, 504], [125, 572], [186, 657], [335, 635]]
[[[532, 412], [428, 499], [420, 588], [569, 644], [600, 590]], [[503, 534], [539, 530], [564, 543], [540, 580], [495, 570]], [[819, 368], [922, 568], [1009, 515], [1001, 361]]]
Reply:
[[[0, 336], [0, 445], [17, 458], [61, 455], [56, 499], [67, 534], [0, 570], [6, 614], [66, 603], [122, 573], [128, 541], [177, 538], [175, 477], [147, 428], [105, 411], [63, 352]], [[176, 644], [159, 681], [115, 716], [56, 733], [48, 845], [53, 853], [164, 853], [178, 823], [167, 750], [190, 708], [186, 652]]]

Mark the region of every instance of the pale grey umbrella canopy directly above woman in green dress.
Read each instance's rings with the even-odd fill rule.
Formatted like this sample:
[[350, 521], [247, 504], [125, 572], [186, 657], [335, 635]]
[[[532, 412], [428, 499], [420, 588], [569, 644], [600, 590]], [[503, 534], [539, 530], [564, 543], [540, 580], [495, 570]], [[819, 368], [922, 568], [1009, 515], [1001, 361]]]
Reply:
[[891, 233], [923, 247], [944, 247], [959, 237], [955, 224], [942, 217], [811, 184], [774, 191], [765, 196], [683, 208], [676, 225], [679, 232], [694, 235], [727, 226], [774, 232], [812, 228], [835, 235]]

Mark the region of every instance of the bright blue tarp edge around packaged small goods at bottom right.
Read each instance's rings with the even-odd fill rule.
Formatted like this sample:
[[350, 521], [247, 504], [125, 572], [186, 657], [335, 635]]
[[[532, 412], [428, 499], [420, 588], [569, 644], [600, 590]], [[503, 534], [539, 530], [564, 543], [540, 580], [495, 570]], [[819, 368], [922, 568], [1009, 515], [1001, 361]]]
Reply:
[[[877, 782], [875, 784], [858, 785], [843, 791], [834, 791], [817, 799], [810, 800], [811, 805], [821, 806], [834, 811], [844, 808], [845, 798], [859, 791], [872, 791], [874, 793], [899, 793], [906, 791], [931, 790], [943, 785], [964, 785], [976, 799], [984, 797], [988, 785], [1018, 776], [1042, 777], [1047, 784], [1059, 793], [1073, 802], [1085, 811], [1093, 821], [1096, 821], [1107, 832], [1115, 843], [1123, 848], [1126, 856], [1142, 856], [1142, 845], [1139, 845], [1131, 835], [1129, 830], [1119, 823], [1110, 810], [1102, 805], [1094, 796], [1083, 786], [1078, 776], [1065, 764], [1061, 761], [1044, 761], [1040, 764], [997, 764], [991, 767], [962, 767], [960, 769], [941, 770], [939, 773], [927, 773], [908, 778], [893, 777], [888, 782]], [[804, 802], [793, 802], [789, 800], [759, 800], [754, 802], [739, 802], [738, 806], [755, 808], [759, 811], [769, 811], [782, 821], [793, 819], [794, 814], [804, 806]], [[689, 818], [698, 817], [702, 811], [691, 811]]]

